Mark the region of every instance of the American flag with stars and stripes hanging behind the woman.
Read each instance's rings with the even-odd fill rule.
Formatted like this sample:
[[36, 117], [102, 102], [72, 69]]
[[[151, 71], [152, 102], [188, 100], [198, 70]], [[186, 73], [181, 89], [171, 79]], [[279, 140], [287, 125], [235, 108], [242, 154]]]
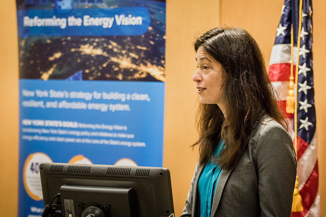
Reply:
[[[314, 80], [312, 68], [312, 3], [303, 0], [301, 43], [299, 49], [298, 103], [297, 103], [297, 175], [299, 191], [302, 197], [303, 211], [292, 212], [292, 217], [319, 217], [320, 197], [318, 190], [318, 160], [316, 112], [314, 101]], [[299, 0], [285, 0], [281, 20], [276, 29], [275, 43], [270, 58], [269, 77], [280, 97], [280, 105], [289, 120], [292, 139], [293, 114], [285, 111], [289, 90], [291, 63], [291, 24], [293, 24], [294, 49], [293, 65], [297, 64], [296, 47], [299, 24]], [[295, 93], [296, 94], [296, 93]], [[293, 127], [294, 128], [294, 127]]]

